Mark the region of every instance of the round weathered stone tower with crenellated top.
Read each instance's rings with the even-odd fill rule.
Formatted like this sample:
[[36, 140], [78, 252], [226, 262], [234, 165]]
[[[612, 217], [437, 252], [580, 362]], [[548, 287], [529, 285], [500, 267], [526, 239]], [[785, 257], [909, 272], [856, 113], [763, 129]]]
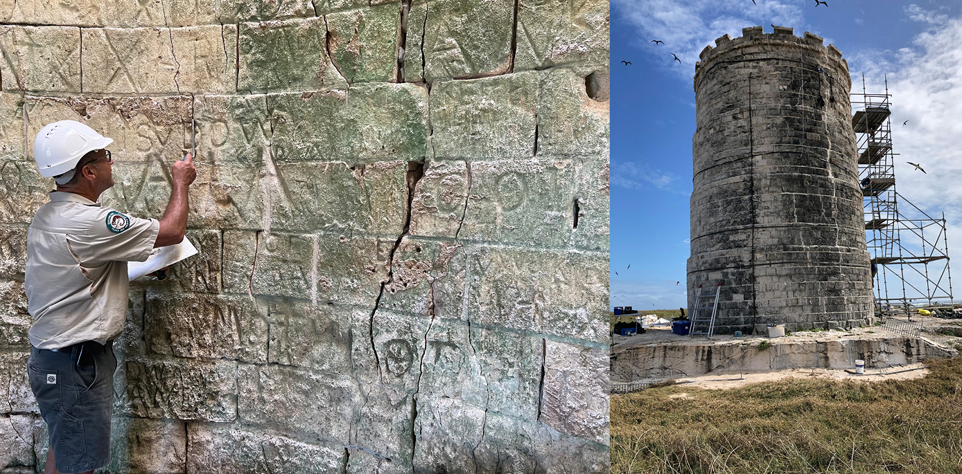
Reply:
[[848, 62], [791, 28], [715, 44], [695, 67], [689, 308], [721, 283], [716, 333], [868, 322]]

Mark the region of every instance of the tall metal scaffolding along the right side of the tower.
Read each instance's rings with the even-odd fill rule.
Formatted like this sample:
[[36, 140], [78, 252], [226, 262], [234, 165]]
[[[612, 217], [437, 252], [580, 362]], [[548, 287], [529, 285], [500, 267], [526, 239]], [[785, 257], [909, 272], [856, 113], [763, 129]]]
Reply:
[[[858, 143], [865, 239], [872, 258], [875, 308], [952, 304], [946, 219], [934, 219], [896, 192], [888, 78], [884, 94], [851, 95], [851, 125]], [[899, 204], [908, 212], [899, 210]], [[906, 215], [908, 214], [908, 215]], [[890, 285], [892, 288], [890, 288]]]

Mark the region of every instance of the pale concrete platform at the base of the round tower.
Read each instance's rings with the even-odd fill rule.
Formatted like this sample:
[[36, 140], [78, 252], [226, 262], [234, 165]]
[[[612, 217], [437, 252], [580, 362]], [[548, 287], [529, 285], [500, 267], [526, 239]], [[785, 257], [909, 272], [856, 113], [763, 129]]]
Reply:
[[[920, 318], [913, 318], [918, 321]], [[792, 368], [866, 369], [909, 366], [933, 357], [959, 355], [962, 339], [950, 335], [962, 321], [924, 321], [927, 329], [914, 337], [882, 327], [821, 332], [801, 331], [783, 338], [748, 336], [677, 336], [663, 328], [636, 336], [613, 336], [611, 381], [660, 382], [704, 374], [744, 374]]]

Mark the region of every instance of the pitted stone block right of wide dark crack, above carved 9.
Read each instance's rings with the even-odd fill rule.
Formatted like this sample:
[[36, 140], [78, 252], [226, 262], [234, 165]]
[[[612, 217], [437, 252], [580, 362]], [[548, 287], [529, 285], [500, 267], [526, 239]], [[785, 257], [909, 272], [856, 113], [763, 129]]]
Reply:
[[455, 242], [405, 236], [394, 250], [392, 278], [379, 308], [461, 319], [466, 253], [459, 249]]

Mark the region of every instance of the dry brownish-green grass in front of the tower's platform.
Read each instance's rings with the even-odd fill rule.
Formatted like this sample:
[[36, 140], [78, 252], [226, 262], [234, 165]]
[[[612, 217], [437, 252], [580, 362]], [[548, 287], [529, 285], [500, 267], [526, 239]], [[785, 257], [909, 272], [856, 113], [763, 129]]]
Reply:
[[611, 472], [962, 472], [962, 358], [927, 365], [915, 380], [612, 395]]

